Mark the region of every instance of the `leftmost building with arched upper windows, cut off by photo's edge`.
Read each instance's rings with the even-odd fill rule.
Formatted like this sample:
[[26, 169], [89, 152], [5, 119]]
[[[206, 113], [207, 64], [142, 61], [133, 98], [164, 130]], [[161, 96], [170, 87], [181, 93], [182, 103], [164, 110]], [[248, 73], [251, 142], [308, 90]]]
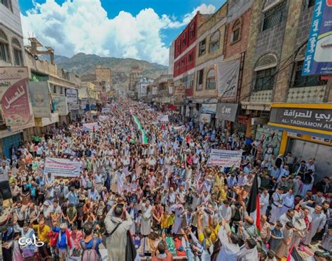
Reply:
[[[6, 99], [6, 92], [15, 88], [15, 82], [11, 74], [17, 74], [16, 79], [24, 81], [24, 93], [26, 112], [15, 114], [21, 122], [11, 121], [11, 114], [14, 110], [12, 106], [6, 109], [7, 105], [1, 101], [0, 107], [0, 156], [10, 157], [9, 149], [12, 145], [18, 147], [23, 140], [23, 133], [27, 128], [34, 126], [34, 117], [31, 103], [29, 102], [29, 86], [27, 83], [28, 72], [25, 57], [22, 25], [20, 20], [20, 6], [18, 0], [0, 1], [0, 98]], [[20, 68], [19, 68], [20, 67]], [[20, 102], [18, 99], [17, 102]], [[26, 119], [26, 120], [25, 120]], [[23, 121], [25, 123], [23, 123]]]

